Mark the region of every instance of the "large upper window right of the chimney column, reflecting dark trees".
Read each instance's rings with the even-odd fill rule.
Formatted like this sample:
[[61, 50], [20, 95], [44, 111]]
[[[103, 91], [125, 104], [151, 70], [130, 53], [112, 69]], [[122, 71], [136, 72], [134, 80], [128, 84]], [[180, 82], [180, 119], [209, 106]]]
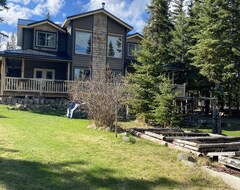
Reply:
[[122, 37], [108, 36], [108, 57], [122, 58]]

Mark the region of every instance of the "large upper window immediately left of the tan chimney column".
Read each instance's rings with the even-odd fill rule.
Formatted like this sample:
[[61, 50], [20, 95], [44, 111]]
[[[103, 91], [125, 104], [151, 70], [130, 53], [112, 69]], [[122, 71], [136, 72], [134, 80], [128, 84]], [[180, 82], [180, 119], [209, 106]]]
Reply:
[[75, 40], [76, 54], [92, 54], [92, 34], [89, 32], [76, 31]]

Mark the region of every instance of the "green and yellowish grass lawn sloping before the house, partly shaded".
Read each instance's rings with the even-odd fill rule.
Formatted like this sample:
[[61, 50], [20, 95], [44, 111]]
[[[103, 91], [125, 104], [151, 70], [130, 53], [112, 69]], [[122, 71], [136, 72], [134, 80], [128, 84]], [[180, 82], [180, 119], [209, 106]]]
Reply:
[[87, 125], [0, 105], [0, 189], [229, 189], [177, 162], [177, 151]]

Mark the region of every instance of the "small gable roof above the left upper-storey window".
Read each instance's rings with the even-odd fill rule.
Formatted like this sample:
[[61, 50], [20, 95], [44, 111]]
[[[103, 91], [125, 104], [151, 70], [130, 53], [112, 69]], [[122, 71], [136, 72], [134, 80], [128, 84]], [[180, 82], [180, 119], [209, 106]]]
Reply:
[[56, 23], [52, 22], [49, 19], [45, 19], [45, 20], [41, 20], [41, 21], [18, 19], [18, 25], [23, 26], [24, 28], [32, 28], [32, 27], [39, 26], [42, 24], [49, 24], [52, 27], [60, 30], [61, 32], [65, 32], [65, 30], [61, 26], [57, 25]]

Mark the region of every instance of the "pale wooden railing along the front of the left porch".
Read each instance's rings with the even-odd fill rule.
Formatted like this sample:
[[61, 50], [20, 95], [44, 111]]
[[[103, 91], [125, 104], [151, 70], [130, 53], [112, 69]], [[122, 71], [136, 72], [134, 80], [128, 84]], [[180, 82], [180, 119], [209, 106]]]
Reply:
[[72, 81], [6, 77], [3, 91], [68, 93]]

